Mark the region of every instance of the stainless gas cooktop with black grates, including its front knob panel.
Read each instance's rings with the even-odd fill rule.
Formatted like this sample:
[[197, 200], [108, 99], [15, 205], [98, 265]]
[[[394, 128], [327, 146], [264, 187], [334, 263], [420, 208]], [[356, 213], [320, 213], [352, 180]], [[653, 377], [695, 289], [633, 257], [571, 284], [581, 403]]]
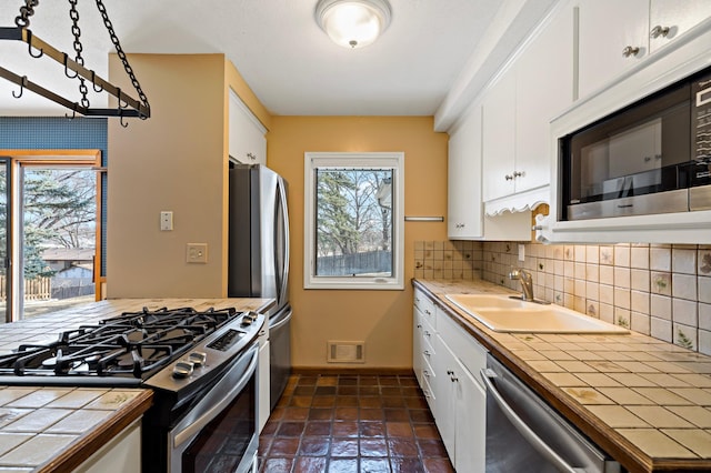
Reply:
[[262, 323], [234, 308], [124, 312], [0, 356], [0, 384], [140, 386], [158, 376], [153, 388], [178, 390], [239, 354]]

